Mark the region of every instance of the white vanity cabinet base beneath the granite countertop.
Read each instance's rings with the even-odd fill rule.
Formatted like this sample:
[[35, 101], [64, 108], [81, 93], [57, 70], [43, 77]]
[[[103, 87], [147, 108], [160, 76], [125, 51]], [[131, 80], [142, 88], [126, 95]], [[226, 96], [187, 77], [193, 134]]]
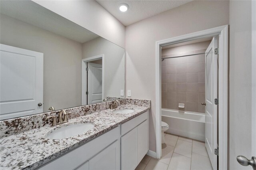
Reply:
[[147, 152], [148, 111], [38, 169], [131, 170]]

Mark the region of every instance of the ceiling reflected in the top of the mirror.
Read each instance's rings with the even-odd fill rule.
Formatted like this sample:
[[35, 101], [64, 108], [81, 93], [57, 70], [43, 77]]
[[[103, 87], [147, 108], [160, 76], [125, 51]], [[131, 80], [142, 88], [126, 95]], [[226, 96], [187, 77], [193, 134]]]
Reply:
[[28, 0], [0, 0], [1, 14], [84, 43], [98, 35]]

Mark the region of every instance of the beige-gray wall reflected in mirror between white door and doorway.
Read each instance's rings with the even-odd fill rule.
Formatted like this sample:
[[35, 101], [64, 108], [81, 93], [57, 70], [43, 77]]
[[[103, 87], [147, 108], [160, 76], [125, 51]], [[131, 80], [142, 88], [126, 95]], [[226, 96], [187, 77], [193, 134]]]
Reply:
[[81, 105], [82, 44], [1, 14], [2, 44], [44, 53], [44, 112]]

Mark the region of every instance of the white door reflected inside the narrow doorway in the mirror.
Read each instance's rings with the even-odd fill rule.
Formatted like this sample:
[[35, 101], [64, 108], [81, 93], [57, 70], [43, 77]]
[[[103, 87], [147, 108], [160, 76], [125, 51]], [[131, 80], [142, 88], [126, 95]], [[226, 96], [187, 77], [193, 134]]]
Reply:
[[88, 105], [102, 102], [102, 65], [87, 63], [88, 65]]

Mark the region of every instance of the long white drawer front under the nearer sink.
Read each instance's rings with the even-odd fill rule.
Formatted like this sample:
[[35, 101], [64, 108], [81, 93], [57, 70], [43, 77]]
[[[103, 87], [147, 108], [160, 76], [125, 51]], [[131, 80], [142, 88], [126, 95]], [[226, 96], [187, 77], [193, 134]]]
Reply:
[[83, 144], [71, 150], [70, 152], [60, 156], [46, 165], [41, 166], [40, 170], [72, 170], [77, 168], [78, 166], [82, 165], [86, 160], [89, 160], [106, 148], [108, 145], [113, 143], [116, 139], [120, 136], [120, 127], [116, 127], [109, 132], [106, 132], [97, 138]]

